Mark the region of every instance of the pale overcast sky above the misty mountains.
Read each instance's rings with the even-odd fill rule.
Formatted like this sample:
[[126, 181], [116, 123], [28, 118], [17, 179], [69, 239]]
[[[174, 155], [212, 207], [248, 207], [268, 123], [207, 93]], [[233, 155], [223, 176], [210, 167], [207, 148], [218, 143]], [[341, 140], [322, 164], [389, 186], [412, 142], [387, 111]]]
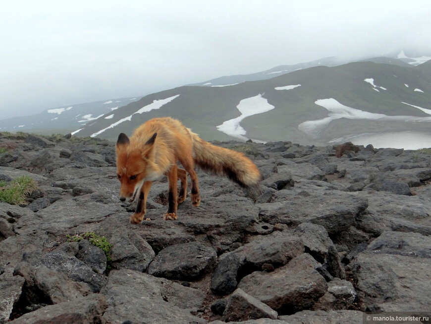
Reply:
[[324, 57], [431, 53], [429, 0], [11, 0], [0, 119]]

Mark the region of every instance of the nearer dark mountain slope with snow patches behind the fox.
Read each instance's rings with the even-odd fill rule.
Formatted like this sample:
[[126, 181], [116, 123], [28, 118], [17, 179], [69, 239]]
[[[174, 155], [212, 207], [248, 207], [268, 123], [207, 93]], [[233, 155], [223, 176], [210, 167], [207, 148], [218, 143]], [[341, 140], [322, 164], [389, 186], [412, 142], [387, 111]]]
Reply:
[[[333, 101], [319, 101], [323, 99]], [[336, 107], [324, 107], [328, 102]], [[171, 116], [207, 140], [231, 139], [234, 134], [242, 139], [327, 144], [374, 131], [430, 133], [430, 102], [430, 78], [419, 69], [358, 62], [225, 87], [162, 91], [118, 109], [110, 119], [106, 117], [112, 114], [99, 118], [77, 135], [115, 139], [148, 119]], [[219, 130], [225, 129], [222, 125], [231, 127], [230, 135]]]

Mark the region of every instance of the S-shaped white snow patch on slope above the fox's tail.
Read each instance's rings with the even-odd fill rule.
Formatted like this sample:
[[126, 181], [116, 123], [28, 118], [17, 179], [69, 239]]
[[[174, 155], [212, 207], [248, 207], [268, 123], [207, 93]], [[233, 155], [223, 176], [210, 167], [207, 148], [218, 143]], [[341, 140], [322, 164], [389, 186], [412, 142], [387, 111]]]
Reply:
[[275, 107], [268, 103], [268, 99], [265, 99], [259, 94], [255, 97], [242, 99], [236, 108], [241, 113], [241, 116], [223, 122], [223, 124], [217, 126], [217, 130], [242, 140], [248, 140], [248, 138], [244, 136], [246, 131], [239, 123], [246, 117], [265, 113]]

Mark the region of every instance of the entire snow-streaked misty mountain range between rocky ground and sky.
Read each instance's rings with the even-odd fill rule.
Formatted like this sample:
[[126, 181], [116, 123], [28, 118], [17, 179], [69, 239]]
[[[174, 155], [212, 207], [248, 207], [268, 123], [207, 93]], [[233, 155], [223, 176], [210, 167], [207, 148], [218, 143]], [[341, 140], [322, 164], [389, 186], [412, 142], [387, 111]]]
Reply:
[[280, 65], [140, 99], [48, 109], [2, 120], [0, 128], [115, 140], [118, 133], [131, 134], [151, 118], [171, 116], [207, 140], [290, 140], [306, 145], [351, 140], [378, 145], [382, 138], [397, 138], [388, 145], [430, 147], [431, 61], [427, 58], [401, 52], [346, 64], [325, 58]]

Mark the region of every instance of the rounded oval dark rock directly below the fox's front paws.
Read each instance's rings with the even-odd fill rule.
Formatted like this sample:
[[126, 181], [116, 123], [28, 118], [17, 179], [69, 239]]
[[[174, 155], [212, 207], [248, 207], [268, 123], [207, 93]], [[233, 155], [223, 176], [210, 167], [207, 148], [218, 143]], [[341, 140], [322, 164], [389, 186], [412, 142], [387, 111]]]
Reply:
[[190, 242], [164, 248], [150, 263], [148, 273], [157, 277], [194, 280], [216, 266], [213, 248]]

